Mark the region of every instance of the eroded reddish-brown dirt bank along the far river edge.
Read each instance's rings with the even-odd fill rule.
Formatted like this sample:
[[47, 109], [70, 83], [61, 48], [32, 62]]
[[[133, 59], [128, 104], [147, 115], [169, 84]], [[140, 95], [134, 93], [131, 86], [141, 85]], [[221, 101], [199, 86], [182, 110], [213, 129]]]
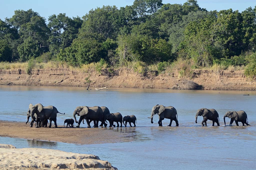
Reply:
[[[63, 75], [64, 74], [64, 75]], [[1, 70], [0, 84], [34, 85], [34, 86], [88, 86], [86, 78], [91, 80], [92, 87], [120, 88], [156, 88], [171, 89], [179, 78], [179, 73], [158, 74], [147, 72], [136, 73], [131, 69], [104, 69], [98, 74], [93, 71], [76, 71], [62, 68], [35, 69], [31, 75], [24, 69]], [[243, 70], [195, 70], [190, 78], [203, 86], [204, 90], [248, 90], [256, 91], [256, 81], [247, 78]]]

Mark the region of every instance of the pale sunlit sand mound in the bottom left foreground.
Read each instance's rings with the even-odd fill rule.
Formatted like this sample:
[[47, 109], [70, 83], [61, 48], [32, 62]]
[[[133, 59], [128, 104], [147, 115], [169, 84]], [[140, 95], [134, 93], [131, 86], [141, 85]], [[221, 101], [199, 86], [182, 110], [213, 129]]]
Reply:
[[0, 160], [0, 169], [117, 169], [95, 155], [42, 148], [17, 149], [3, 144], [0, 144]]

